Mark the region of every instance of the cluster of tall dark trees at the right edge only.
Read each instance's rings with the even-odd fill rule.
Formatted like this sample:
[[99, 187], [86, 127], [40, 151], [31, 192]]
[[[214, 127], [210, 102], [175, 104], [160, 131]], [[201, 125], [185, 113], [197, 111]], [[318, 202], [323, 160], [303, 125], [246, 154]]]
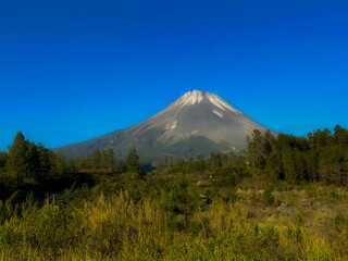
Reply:
[[253, 130], [247, 139], [247, 160], [272, 181], [325, 182], [344, 186], [348, 182], [348, 130], [337, 125], [295, 137]]

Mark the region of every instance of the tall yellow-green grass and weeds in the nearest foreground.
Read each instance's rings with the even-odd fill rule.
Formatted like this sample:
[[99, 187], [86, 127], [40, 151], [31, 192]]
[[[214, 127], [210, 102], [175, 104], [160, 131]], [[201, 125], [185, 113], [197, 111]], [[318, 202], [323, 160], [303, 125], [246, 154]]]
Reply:
[[[13, 209], [2, 203], [0, 259], [215, 261], [348, 257], [347, 221], [339, 214], [332, 236], [311, 238], [299, 221], [279, 227], [251, 222], [238, 201], [215, 200], [209, 208], [195, 204], [189, 212], [167, 211], [161, 207], [162, 201], [141, 198], [135, 202], [127, 191], [121, 191], [79, 203], [50, 198], [38, 207], [33, 197]], [[184, 208], [185, 202], [179, 207]]]

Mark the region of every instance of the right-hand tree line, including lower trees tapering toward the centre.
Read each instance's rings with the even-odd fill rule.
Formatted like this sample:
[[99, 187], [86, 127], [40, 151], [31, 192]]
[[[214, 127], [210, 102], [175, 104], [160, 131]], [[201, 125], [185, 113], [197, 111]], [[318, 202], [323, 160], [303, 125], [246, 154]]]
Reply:
[[307, 137], [254, 129], [241, 153], [211, 153], [175, 161], [166, 158], [158, 167], [163, 173], [212, 173], [235, 181], [263, 175], [270, 182], [291, 184], [323, 182], [348, 184], [348, 129], [337, 125], [309, 133]]

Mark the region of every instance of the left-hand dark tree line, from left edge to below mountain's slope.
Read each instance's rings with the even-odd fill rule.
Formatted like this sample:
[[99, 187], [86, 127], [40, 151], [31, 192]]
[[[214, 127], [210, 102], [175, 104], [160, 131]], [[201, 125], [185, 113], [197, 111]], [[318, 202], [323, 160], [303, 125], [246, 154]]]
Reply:
[[18, 132], [8, 152], [0, 151], [0, 198], [18, 189], [41, 190], [42, 194], [62, 190], [72, 184], [91, 182], [87, 174], [123, 172], [141, 174], [135, 149], [129, 150], [125, 161], [116, 161], [112, 149], [97, 150], [92, 157], [65, 159], [61, 150], [54, 152], [40, 142], [26, 139]]

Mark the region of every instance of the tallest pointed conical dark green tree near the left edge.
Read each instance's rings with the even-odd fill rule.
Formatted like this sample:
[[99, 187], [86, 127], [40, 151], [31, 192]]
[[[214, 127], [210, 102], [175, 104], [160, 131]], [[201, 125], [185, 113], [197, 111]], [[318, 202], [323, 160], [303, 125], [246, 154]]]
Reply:
[[12, 146], [9, 147], [7, 171], [13, 177], [23, 178], [28, 173], [28, 142], [23, 133], [18, 132]]

